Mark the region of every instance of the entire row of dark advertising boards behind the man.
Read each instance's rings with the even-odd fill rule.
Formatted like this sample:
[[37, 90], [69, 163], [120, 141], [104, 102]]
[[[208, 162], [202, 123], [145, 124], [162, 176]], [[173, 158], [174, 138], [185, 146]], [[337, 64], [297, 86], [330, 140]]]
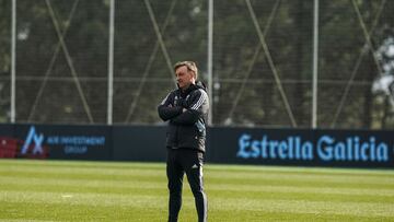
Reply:
[[[394, 167], [394, 131], [208, 128], [209, 163]], [[0, 157], [166, 160], [165, 126], [0, 125]]]

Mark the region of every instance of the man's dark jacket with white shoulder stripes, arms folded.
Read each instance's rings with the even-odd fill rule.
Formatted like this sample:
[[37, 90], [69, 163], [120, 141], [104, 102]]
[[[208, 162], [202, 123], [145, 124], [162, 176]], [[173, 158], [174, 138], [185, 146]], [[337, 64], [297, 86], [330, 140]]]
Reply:
[[[183, 108], [187, 110], [183, 112]], [[205, 152], [208, 109], [208, 94], [200, 82], [192, 84], [185, 92], [181, 89], [172, 91], [158, 107], [160, 118], [169, 120], [166, 147]]]

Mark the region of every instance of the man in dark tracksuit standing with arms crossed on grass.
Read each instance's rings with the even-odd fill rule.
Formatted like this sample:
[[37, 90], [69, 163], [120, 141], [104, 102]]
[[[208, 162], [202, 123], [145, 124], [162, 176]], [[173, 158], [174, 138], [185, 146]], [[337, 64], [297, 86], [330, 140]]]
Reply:
[[183, 176], [186, 173], [195, 197], [198, 221], [207, 221], [207, 196], [204, 191], [202, 163], [209, 101], [206, 87], [197, 82], [197, 66], [181, 61], [174, 66], [177, 89], [159, 105], [159, 116], [169, 120], [166, 135], [169, 179], [169, 221], [177, 221], [182, 206]]

